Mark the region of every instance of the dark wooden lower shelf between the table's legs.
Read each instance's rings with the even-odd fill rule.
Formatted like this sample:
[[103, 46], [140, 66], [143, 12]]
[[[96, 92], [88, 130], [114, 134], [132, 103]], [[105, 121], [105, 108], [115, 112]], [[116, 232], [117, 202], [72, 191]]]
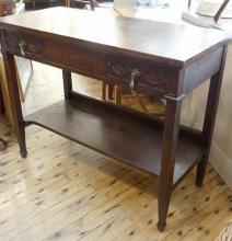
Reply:
[[[84, 96], [60, 101], [26, 116], [36, 124], [93, 150], [160, 175], [162, 128], [150, 118]], [[178, 138], [174, 184], [201, 158], [199, 141]]]

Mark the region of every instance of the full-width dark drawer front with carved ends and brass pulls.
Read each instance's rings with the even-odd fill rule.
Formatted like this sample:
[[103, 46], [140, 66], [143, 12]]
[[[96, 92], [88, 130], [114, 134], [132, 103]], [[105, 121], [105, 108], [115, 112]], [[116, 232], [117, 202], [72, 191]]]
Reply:
[[136, 88], [154, 94], [165, 94], [167, 70], [152, 62], [119, 57], [78, 44], [67, 44], [58, 39], [39, 38], [34, 35], [5, 32], [7, 48], [13, 53], [59, 68], [107, 80], [119, 85], [131, 85], [132, 73]]

